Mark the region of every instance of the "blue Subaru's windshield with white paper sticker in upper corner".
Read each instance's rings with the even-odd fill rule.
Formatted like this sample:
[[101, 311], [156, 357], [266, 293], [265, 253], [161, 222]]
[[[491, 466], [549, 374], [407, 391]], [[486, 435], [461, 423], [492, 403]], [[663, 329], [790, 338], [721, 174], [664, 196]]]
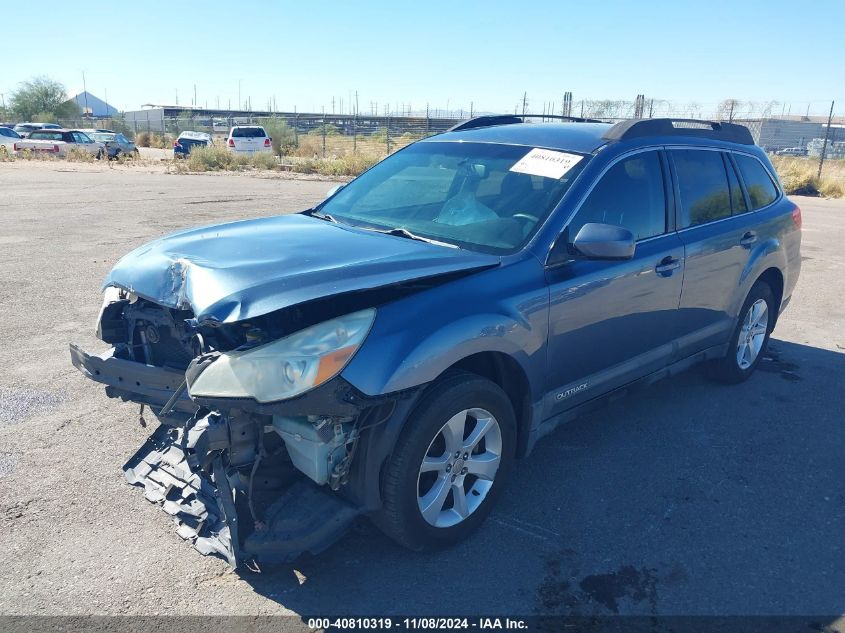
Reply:
[[[556, 160], [564, 165], [550, 169], [548, 161]], [[415, 143], [350, 182], [319, 211], [353, 226], [404, 229], [470, 250], [513, 252], [586, 163], [578, 154], [525, 146]]]

